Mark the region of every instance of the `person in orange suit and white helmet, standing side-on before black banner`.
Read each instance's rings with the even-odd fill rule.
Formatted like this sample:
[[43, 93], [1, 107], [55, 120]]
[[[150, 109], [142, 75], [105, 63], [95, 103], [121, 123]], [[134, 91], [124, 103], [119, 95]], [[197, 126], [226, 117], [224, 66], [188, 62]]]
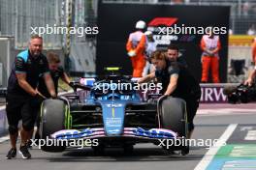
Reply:
[[127, 54], [132, 61], [133, 77], [142, 77], [145, 66], [145, 35], [144, 35], [145, 22], [139, 20], [136, 23], [136, 31], [129, 35], [128, 42], [126, 43]]

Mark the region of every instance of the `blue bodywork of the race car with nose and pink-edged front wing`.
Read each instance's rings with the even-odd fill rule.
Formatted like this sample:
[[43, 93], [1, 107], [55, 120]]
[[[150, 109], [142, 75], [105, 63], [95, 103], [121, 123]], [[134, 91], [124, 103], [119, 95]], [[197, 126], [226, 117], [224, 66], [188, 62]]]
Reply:
[[[125, 109], [127, 105], [144, 104], [140, 95], [135, 90], [125, 92], [118, 90], [109, 90], [106, 92], [99, 91], [97, 90], [94, 82], [95, 79], [93, 78], [80, 79], [80, 84], [91, 86], [90, 93], [84, 99], [84, 102], [88, 105], [101, 106], [104, 126], [102, 128], [63, 129], [51, 134], [51, 137], [58, 139], [99, 138], [115, 136], [137, 137], [143, 139], [173, 139], [177, 137], [176, 132], [170, 129], [144, 129], [140, 127], [124, 128], [126, 114]], [[155, 113], [156, 112], [157, 111], [155, 110]]]

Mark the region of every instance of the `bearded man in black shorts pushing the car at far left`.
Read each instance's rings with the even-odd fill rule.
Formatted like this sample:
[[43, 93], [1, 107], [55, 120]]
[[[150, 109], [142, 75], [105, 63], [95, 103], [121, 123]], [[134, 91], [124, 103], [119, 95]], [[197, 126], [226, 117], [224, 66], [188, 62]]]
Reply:
[[6, 158], [16, 157], [18, 121], [22, 120], [19, 154], [31, 158], [26, 143], [30, 139], [44, 97], [36, 90], [39, 76], [44, 74], [50, 97], [55, 98], [54, 84], [48, 71], [47, 58], [42, 54], [43, 39], [38, 35], [30, 38], [29, 48], [17, 54], [14, 67], [8, 80], [6, 113], [9, 123], [11, 149]]

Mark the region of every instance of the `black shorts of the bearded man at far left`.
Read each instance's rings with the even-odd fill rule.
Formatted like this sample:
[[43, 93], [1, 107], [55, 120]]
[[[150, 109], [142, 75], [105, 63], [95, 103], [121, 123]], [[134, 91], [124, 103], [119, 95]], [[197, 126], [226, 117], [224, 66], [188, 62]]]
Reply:
[[18, 122], [22, 126], [33, 128], [39, 107], [34, 104], [30, 97], [10, 95], [7, 96], [6, 115], [9, 126], [17, 128]]

